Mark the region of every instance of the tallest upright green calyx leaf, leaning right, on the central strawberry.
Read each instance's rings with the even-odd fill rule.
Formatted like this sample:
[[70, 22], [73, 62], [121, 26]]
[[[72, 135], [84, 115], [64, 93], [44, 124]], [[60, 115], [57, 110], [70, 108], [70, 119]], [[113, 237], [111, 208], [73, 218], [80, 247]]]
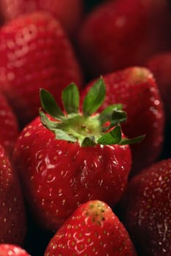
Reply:
[[88, 91], [86, 97], [83, 101], [83, 115], [91, 116], [98, 110], [102, 105], [105, 98], [105, 85], [104, 80], [99, 78], [99, 80], [94, 83], [94, 86]]

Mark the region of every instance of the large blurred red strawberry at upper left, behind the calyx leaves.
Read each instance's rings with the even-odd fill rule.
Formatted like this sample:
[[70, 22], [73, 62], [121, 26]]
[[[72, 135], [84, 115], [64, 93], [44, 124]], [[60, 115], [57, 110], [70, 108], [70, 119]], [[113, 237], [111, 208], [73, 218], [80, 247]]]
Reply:
[[39, 87], [61, 99], [71, 81], [81, 84], [80, 68], [61, 24], [34, 12], [0, 31], [0, 83], [22, 124], [37, 116]]

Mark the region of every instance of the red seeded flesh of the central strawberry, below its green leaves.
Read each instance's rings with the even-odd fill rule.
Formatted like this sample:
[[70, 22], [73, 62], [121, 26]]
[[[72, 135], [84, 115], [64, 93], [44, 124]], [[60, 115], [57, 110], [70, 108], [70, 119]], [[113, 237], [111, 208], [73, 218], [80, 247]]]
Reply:
[[57, 230], [87, 200], [114, 206], [126, 189], [132, 156], [128, 145], [80, 147], [56, 140], [37, 117], [20, 133], [13, 162], [37, 222]]

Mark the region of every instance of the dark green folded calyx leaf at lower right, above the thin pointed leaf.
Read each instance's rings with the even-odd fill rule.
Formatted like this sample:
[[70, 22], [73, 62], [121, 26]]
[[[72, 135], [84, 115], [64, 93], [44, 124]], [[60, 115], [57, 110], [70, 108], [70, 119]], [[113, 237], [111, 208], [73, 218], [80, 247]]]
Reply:
[[121, 141], [121, 127], [115, 127], [111, 132], [108, 132], [100, 137], [97, 142], [102, 145], [118, 144]]

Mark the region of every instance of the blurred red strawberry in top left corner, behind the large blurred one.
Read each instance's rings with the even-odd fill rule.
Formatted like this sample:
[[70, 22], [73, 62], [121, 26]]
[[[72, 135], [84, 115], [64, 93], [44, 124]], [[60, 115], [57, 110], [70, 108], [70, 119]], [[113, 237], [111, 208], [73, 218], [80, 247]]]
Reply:
[[0, 6], [4, 23], [29, 12], [50, 12], [61, 21], [69, 36], [75, 34], [83, 16], [83, 1], [80, 0], [1, 0]]

